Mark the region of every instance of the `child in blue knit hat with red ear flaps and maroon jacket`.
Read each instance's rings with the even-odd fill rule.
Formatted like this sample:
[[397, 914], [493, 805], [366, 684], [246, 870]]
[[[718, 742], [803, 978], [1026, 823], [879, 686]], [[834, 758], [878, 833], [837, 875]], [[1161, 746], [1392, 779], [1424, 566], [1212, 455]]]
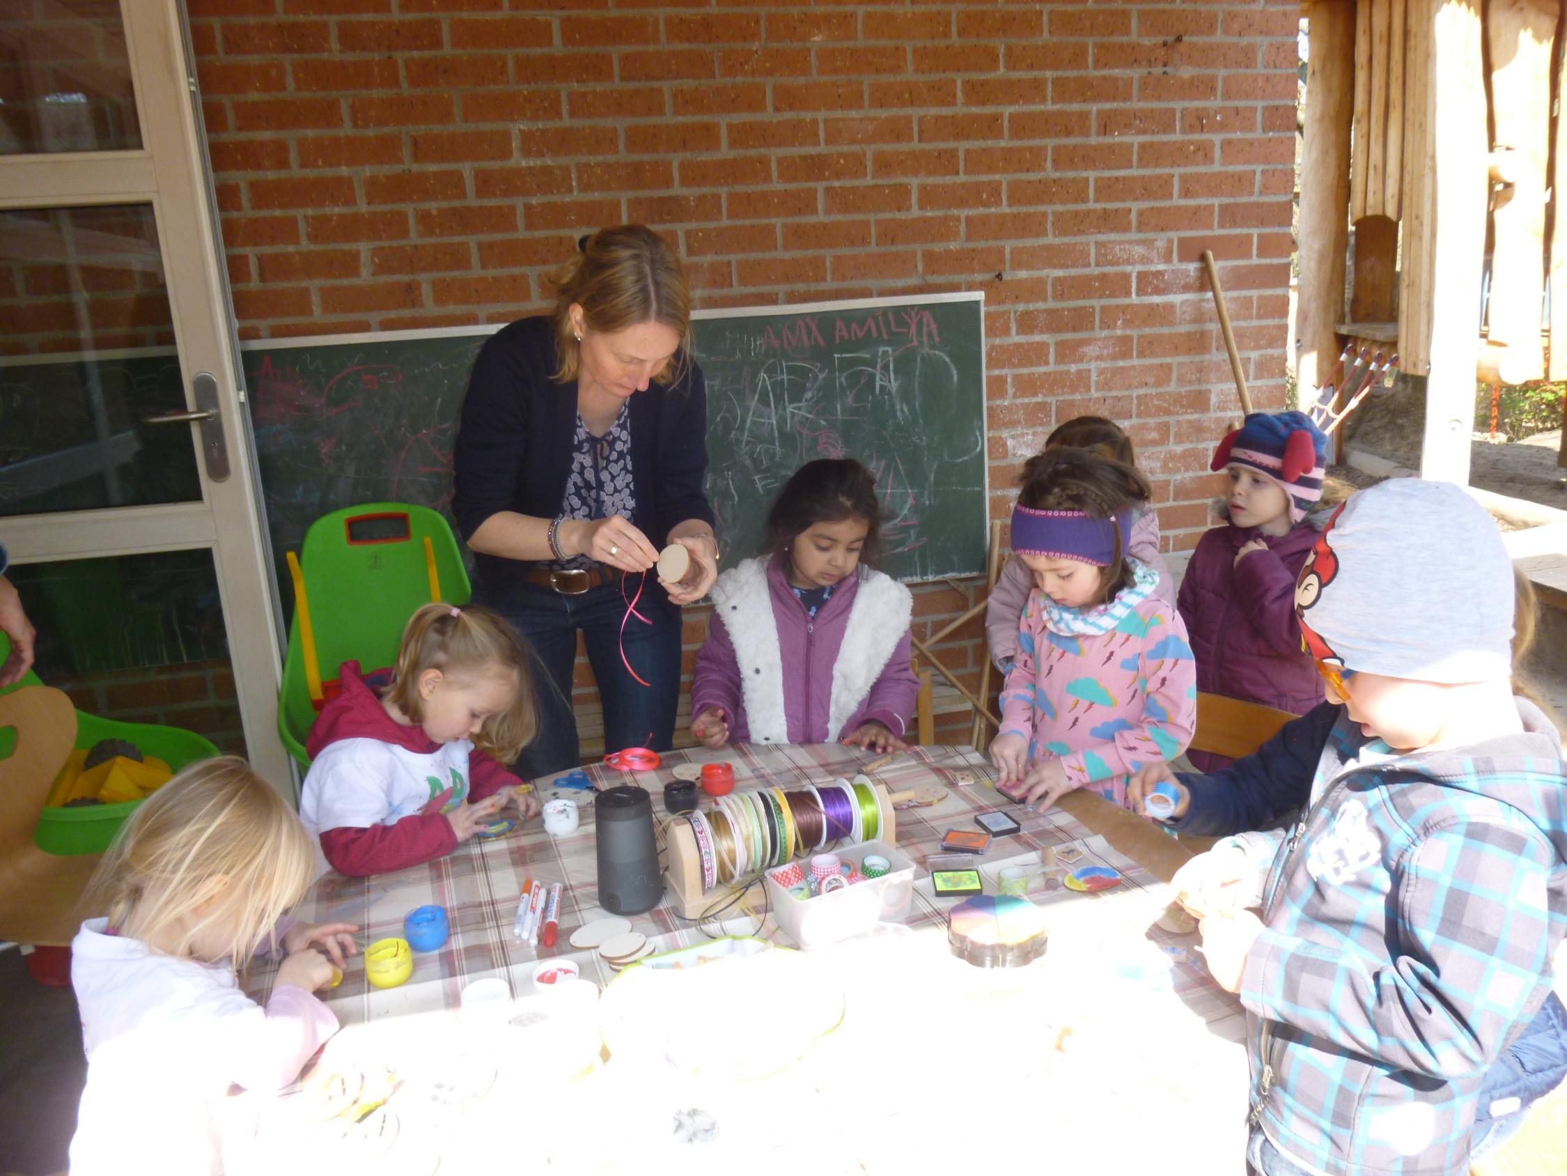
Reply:
[[[1294, 622], [1294, 580], [1319, 527], [1327, 434], [1304, 412], [1250, 412], [1219, 442], [1225, 525], [1202, 536], [1177, 607], [1197, 657], [1197, 690], [1304, 715], [1321, 701]], [[1229, 764], [1189, 753], [1202, 771]]]

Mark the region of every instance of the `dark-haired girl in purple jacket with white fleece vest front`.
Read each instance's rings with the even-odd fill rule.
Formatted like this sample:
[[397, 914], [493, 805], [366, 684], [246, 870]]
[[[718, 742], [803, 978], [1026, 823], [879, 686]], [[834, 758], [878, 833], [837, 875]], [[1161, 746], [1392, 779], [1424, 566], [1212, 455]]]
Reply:
[[909, 590], [874, 571], [876, 480], [852, 459], [801, 466], [768, 511], [763, 555], [718, 577], [696, 655], [691, 737], [704, 746], [901, 750], [920, 681]]

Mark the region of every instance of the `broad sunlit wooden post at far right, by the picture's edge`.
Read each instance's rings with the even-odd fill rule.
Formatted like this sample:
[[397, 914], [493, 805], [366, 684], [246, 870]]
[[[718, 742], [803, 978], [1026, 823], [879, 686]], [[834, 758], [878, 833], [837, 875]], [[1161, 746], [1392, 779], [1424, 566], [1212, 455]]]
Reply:
[[1550, 151], [1551, 0], [1490, 0], [1486, 36], [1495, 140], [1507, 149], [1509, 183], [1492, 202], [1489, 340], [1507, 350], [1511, 379], [1545, 375], [1540, 295], [1545, 287], [1545, 169]]

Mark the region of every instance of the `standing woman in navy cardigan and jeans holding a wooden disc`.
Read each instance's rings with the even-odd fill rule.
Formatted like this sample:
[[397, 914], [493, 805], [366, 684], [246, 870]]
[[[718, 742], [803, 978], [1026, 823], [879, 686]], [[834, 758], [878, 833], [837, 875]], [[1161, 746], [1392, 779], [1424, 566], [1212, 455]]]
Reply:
[[[578, 629], [606, 746], [669, 748], [680, 605], [718, 577], [702, 492], [707, 392], [679, 259], [642, 226], [603, 229], [552, 282], [553, 312], [511, 323], [480, 351], [454, 453], [475, 599], [522, 630], [553, 685], [539, 690], [539, 735], [517, 762], [527, 778], [577, 765]], [[649, 583], [627, 616], [666, 543], [691, 552], [700, 579]]]

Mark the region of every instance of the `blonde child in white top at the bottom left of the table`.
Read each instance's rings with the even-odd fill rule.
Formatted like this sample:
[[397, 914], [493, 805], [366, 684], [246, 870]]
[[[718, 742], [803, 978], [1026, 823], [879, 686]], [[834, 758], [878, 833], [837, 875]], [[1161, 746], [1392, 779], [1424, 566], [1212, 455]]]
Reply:
[[[71, 944], [88, 1055], [72, 1173], [218, 1171], [229, 1087], [287, 1085], [337, 1032], [312, 993], [357, 928], [280, 922], [313, 877], [293, 808], [241, 759], [185, 768], [130, 815]], [[257, 949], [285, 953], [265, 1007], [235, 977]]]

